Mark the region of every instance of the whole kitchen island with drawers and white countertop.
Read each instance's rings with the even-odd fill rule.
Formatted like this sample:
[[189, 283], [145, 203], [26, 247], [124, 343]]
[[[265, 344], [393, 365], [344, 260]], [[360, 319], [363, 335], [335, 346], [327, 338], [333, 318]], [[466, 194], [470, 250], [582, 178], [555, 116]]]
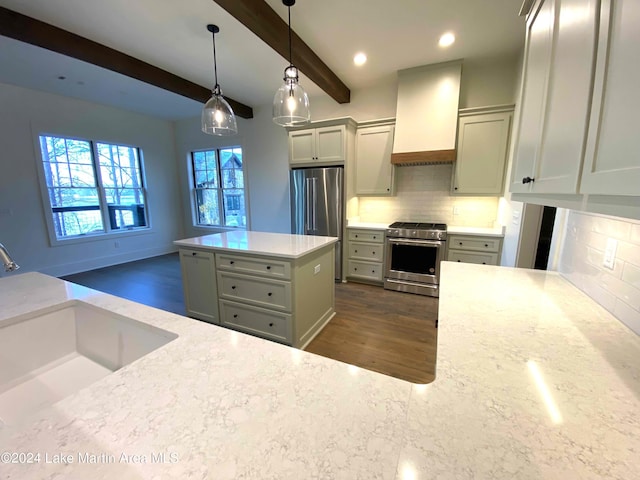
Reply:
[[304, 348], [335, 315], [337, 241], [244, 230], [176, 240], [187, 314]]

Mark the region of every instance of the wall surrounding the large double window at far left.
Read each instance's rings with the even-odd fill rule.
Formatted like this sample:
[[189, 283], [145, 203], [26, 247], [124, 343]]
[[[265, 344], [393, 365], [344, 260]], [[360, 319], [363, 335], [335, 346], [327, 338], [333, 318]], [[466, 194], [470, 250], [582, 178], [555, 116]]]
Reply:
[[[22, 271], [64, 275], [174, 250], [182, 236], [171, 122], [82, 100], [0, 84], [0, 242]], [[142, 149], [152, 229], [140, 235], [51, 246], [36, 165], [41, 132]]]

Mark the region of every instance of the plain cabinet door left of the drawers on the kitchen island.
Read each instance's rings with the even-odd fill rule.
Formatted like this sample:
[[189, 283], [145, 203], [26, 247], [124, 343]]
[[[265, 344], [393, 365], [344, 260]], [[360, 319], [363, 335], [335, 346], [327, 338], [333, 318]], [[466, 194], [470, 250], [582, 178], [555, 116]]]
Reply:
[[220, 323], [213, 253], [180, 249], [180, 268], [187, 315]]

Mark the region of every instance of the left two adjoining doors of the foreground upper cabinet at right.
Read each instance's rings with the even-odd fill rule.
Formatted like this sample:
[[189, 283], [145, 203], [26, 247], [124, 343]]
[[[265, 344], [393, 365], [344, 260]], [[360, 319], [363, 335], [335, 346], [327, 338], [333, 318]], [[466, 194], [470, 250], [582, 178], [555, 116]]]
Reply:
[[529, 14], [512, 192], [578, 192], [598, 3], [539, 0]]

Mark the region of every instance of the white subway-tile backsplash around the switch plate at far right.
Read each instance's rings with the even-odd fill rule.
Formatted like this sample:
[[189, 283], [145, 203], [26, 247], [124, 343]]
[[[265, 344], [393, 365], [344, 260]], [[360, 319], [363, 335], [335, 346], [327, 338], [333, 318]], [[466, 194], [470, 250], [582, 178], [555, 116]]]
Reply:
[[[613, 270], [602, 265], [607, 240], [617, 241]], [[640, 222], [569, 211], [558, 270], [640, 334]]]

